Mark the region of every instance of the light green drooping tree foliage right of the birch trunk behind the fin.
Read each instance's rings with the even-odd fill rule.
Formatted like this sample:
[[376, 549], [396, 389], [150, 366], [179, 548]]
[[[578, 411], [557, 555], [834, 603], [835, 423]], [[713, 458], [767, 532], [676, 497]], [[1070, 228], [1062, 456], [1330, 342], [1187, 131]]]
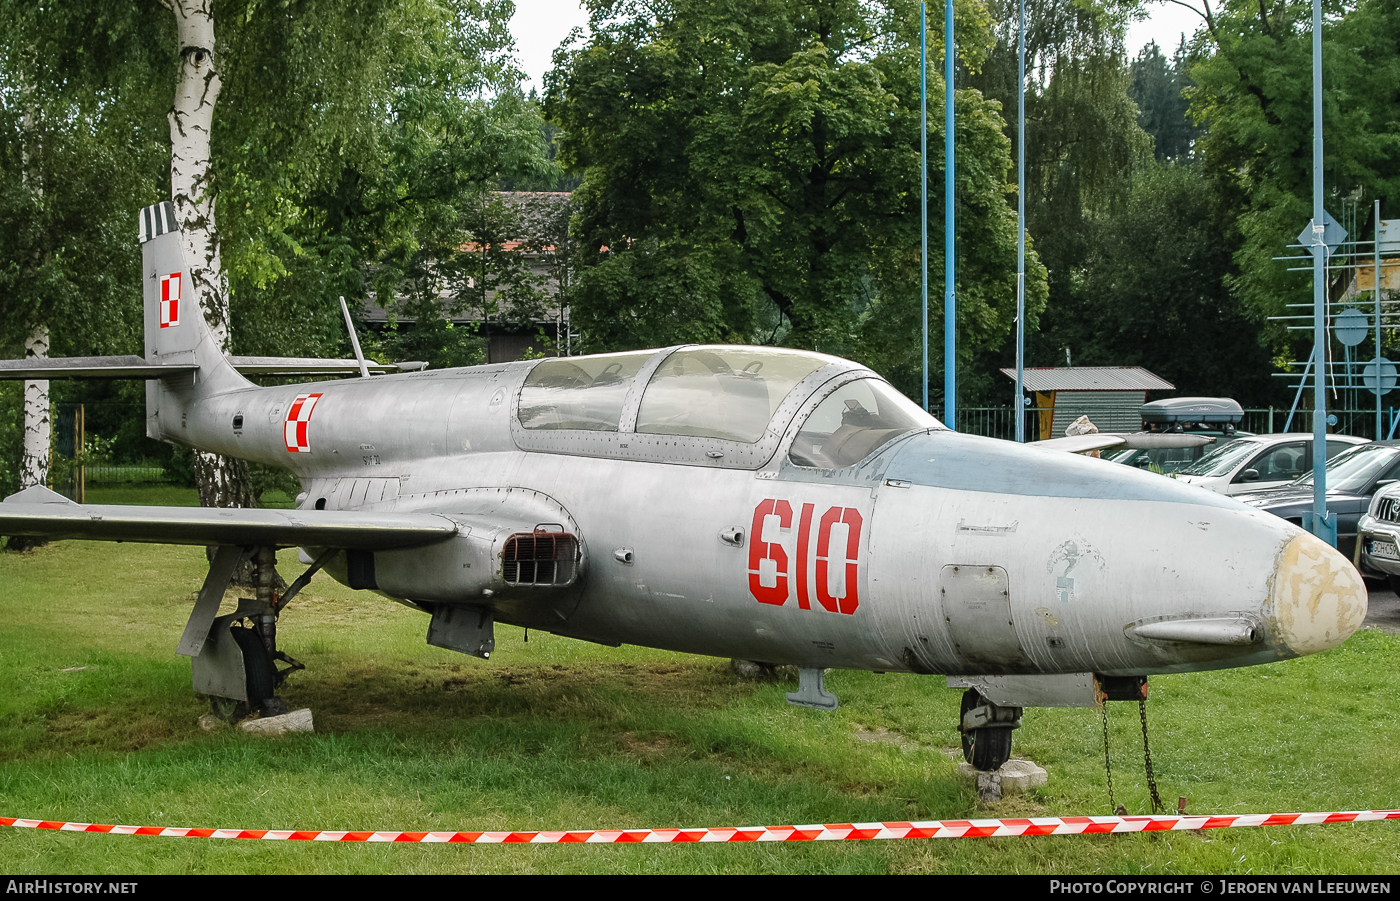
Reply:
[[342, 294], [414, 306], [423, 329], [442, 330], [445, 322], [424, 319], [442, 319], [437, 301], [416, 304], [426, 292], [456, 294], [459, 250], [483, 197], [503, 176], [553, 172], [538, 106], [515, 88], [514, 4], [381, 0], [258, 13], [227, 38], [237, 78], [214, 141], [235, 346], [347, 353]]

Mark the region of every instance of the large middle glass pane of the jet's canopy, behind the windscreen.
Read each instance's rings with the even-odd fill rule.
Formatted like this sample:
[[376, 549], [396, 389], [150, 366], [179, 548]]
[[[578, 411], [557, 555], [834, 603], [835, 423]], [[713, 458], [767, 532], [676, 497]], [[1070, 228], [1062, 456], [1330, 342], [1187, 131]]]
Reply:
[[637, 431], [755, 444], [788, 392], [829, 362], [776, 347], [678, 350], [651, 376]]

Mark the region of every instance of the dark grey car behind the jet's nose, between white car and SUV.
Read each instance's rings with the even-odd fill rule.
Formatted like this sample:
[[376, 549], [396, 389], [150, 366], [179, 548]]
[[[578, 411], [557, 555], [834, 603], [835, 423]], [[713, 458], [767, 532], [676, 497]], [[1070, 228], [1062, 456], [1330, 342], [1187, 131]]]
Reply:
[[[1337, 550], [1355, 560], [1357, 526], [1372, 497], [1400, 480], [1400, 441], [1357, 445], [1327, 460], [1327, 512], [1337, 518]], [[1239, 494], [1238, 499], [1303, 525], [1312, 512], [1312, 473], [1281, 488]]]

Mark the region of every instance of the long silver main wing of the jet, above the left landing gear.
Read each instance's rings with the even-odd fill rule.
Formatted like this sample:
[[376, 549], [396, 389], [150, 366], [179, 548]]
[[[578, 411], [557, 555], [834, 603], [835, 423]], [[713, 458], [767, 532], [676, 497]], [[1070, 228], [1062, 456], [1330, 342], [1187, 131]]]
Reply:
[[0, 534], [155, 544], [388, 550], [431, 544], [458, 525], [435, 513], [74, 504], [48, 488], [0, 502]]

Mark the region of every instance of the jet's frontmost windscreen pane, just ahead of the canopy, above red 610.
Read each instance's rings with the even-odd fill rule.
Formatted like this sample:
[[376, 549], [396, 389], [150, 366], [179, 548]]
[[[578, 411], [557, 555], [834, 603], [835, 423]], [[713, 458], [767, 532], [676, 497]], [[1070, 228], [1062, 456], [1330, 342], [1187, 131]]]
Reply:
[[797, 466], [841, 469], [914, 428], [939, 428], [939, 423], [886, 382], [858, 379], [812, 410], [788, 459]]

